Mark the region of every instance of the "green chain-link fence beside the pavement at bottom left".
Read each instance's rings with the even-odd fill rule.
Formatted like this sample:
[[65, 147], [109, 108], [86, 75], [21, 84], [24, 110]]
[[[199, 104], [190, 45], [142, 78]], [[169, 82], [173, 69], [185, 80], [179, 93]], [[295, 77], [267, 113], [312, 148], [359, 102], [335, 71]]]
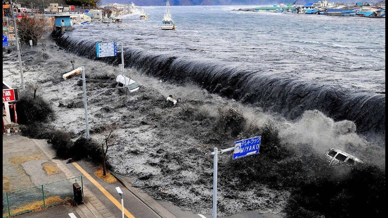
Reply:
[[83, 196], [82, 176], [4, 193], [3, 218], [68, 201], [75, 182], [81, 185]]

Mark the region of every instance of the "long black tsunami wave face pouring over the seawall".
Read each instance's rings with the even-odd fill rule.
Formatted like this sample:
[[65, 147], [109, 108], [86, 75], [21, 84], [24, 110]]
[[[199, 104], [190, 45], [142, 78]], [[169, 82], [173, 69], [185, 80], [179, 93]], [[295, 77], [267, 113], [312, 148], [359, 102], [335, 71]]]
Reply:
[[[52, 37], [57, 45], [74, 54], [96, 60], [96, 40], [80, 40], [58, 32]], [[97, 42], [98, 43], [98, 42]], [[205, 58], [178, 57], [147, 50], [124, 49], [126, 67], [175, 82], [192, 81], [211, 93], [245, 104], [279, 112], [288, 119], [298, 119], [304, 111], [317, 109], [335, 121], [350, 120], [357, 133], [385, 146], [385, 92], [348, 90], [336, 85], [322, 85], [256, 71]], [[121, 57], [98, 60], [120, 64]]]

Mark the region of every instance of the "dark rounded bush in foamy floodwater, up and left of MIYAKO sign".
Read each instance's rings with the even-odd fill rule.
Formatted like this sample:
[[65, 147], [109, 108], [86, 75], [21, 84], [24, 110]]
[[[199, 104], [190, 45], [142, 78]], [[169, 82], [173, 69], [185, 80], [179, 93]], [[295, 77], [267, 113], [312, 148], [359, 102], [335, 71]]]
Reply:
[[226, 110], [218, 109], [218, 123], [223, 133], [237, 136], [243, 130], [246, 119], [242, 112], [230, 107]]

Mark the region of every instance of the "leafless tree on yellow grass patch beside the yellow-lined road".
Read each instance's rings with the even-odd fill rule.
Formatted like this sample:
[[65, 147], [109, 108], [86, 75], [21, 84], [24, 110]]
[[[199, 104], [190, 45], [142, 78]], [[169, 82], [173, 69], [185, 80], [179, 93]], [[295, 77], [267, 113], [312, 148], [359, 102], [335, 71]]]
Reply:
[[110, 147], [116, 145], [118, 142], [117, 135], [118, 124], [113, 123], [106, 126], [100, 126], [97, 128], [97, 131], [100, 132], [99, 137], [97, 137], [98, 149], [102, 155], [102, 170], [103, 175], [106, 176], [106, 154]]

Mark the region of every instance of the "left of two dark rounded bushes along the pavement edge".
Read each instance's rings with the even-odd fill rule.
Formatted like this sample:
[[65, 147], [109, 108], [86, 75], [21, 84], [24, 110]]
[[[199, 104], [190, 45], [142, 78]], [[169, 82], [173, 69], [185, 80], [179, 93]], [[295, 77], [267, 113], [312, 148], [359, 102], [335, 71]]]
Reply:
[[73, 151], [73, 138], [72, 133], [65, 132], [62, 130], [54, 130], [49, 133], [47, 143], [56, 151], [57, 157], [69, 158], [72, 156]]

